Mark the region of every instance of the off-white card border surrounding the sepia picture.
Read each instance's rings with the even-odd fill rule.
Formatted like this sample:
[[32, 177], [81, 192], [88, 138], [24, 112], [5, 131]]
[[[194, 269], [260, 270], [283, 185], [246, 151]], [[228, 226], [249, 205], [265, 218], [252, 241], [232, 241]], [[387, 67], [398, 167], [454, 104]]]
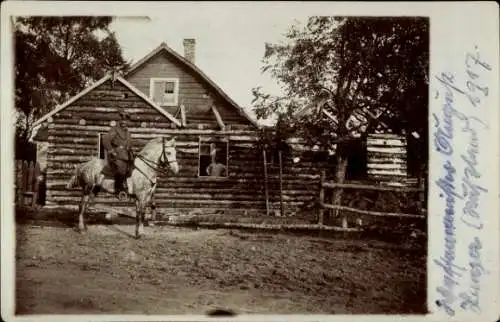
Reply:
[[[331, 16], [423, 16], [430, 18], [430, 89], [429, 89], [429, 241], [428, 241], [428, 309], [427, 315], [401, 316], [401, 315], [246, 315], [234, 318], [224, 318], [227, 321], [351, 321], [367, 319], [369, 321], [447, 321], [447, 320], [469, 320], [492, 321], [499, 317], [499, 280], [498, 280], [498, 245], [499, 245], [499, 216], [498, 216], [498, 178], [499, 178], [499, 113], [498, 113], [498, 89], [499, 84], [499, 39], [498, 39], [498, 5], [496, 2], [90, 2], [82, 1], [58, 2], [58, 1], [6, 1], [2, 3], [1, 12], [1, 180], [2, 180], [2, 202], [1, 202], [1, 273], [2, 273], [2, 318], [7, 321], [213, 321], [203, 315], [186, 316], [139, 316], [139, 315], [30, 315], [14, 316], [14, 290], [15, 290], [15, 221], [14, 221], [14, 198], [13, 198], [13, 36], [11, 29], [11, 16], [19, 15], [113, 15], [113, 16], [157, 16], [159, 10], [193, 10], [200, 14], [216, 14], [218, 10], [234, 10], [261, 12], [271, 15], [293, 15], [297, 13], [304, 15], [331, 15]], [[192, 13], [193, 14], [193, 13]], [[488, 123], [487, 129], [477, 130], [480, 144], [480, 152], [477, 154], [478, 171], [482, 174], [478, 185], [488, 190], [481, 198], [478, 206], [480, 221], [484, 224], [481, 230], [470, 229], [460, 224], [460, 218], [455, 217], [456, 229], [455, 263], [457, 266], [467, 268], [470, 263], [469, 249], [471, 242], [477, 237], [480, 240], [481, 260], [484, 268], [481, 279], [481, 314], [462, 314], [456, 316], [447, 315], [436, 306], [436, 300], [442, 299], [442, 295], [436, 291], [437, 287], [443, 285], [446, 274], [446, 263], [440, 262], [441, 256], [445, 256], [445, 231], [443, 218], [445, 204], [439, 194], [443, 194], [436, 181], [443, 176], [443, 165], [450, 161], [456, 170], [457, 176], [464, 170], [465, 162], [461, 161], [460, 153], [468, 148], [467, 135], [462, 133], [453, 142], [452, 147], [458, 154], [446, 156], [436, 151], [436, 146], [444, 144], [435, 142], [437, 130], [435, 120], [443, 120], [443, 108], [446, 93], [451, 84], [444, 84], [436, 78], [450, 79], [454, 77], [453, 84], [458, 89], [463, 89], [470, 84], [467, 80], [471, 74], [467, 73], [465, 60], [467, 53], [476, 55], [473, 62], [483, 62], [491, 68], [490, 72], [474, 69], [477, 74], [476, 81], [482, 86], [489, 88], [488, 97], [482, 97], [481, 102], [475, 108], [468, 106], [466, 95], [456, 95], [454, 107], [469, 117], [478, 117]], [[479, 53], [479, 56], [477, 56]], [[7, 62], [7, 63], [6, 63]], [[469, 64], [469, 65], [471, 65]], [[479, 64], [481, 65], [481, 64]], [[472, 66], [472, 65], [471, 65]], [[470, 66], [469, 66], [470, 67]], [[477, 64], [475, 64], [475, 67]], [[484, 67], [484, 66], [483, 66]], [[472, 86], [472, 85], [471, 85]], [[455, 91], [456, 89], [451, 89]], [[477, 92], [476, 92], [477, 94]], [[435, 115], [435, 117], [433, 116]], [[440, 123], [443, 124], [442, 122]], [[458, 124], [458, 123], [457, 123]], [[471, 123], [472, 124], [472, 123]], [[463, 125], [463, 124], [462, 124]], [[476, 123], [477, 125], [477, 123]], [[471, 125], [472, 126], [472, 125]], [[474, 125], [475, 126], [475, 125]], [[462, 152], [460, 152], [462, 151]], [[457, 177], [458, 178], [458, 177]], [[457, 183], [457, 189], [460, 184]], [[458, 209], [458, 208], [457, 208]], [[449, 237], [449, 236], [448, 236]], [[449, 240], [448, 240], [449, 242]], [[476, 251], [478, 251], [476, 249]], [[437, 261], [437, 262], [436, 262]], [[441, 264], [443, 266], [440, 266]], [[450, 264], [450, 263], [448, 263]], [[451, 264], [450, 264], [451, 265]], [[450, 266], [448, 266], [450, 269]], [[466, 270], [468, 272], [469, 270]], [[461, 277], [465, 279], [464, 272]], [[451, 276], [451, 275], [450, 275]], [[465, 282], [464, 282], [465, 283]], [[456, 303], [454, 304], [457, 306]], [[460, 314], [459, 314], [460, 313]], [[215, 318], [219, 320], [218, 318]]]

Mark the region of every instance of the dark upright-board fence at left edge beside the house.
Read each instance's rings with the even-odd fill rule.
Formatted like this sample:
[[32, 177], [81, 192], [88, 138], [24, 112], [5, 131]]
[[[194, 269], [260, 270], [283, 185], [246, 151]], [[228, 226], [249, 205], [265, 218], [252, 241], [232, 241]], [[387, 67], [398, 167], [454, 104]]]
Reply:
[[38, 200], [40, 166], [26, 160], [16, 160], [15, 202], [18, 206], [35, 206]]

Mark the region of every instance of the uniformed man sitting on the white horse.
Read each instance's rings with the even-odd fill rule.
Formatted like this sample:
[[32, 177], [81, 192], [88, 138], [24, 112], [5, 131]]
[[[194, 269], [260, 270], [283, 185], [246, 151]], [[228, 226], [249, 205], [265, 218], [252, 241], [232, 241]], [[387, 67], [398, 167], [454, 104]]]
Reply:
[[130, 133], [127, 128], [128, 120], [130, 120], [130, 115], [125, 111], [120, 111], [116, 126], [111, 127], [102, 138], [108, 163], [115, 176], [115, 193], [122, 198], [123, 193], [125, 196], [127, 194], [126, 178], [133, 158]]

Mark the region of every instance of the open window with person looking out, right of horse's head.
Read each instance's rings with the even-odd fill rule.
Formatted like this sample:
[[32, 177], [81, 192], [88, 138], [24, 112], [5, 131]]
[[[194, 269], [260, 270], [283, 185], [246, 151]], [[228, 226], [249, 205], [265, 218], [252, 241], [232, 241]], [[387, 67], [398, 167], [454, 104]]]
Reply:
[[200, 139], [198, 175], [200, 177], [228, 176], [228, 142]]

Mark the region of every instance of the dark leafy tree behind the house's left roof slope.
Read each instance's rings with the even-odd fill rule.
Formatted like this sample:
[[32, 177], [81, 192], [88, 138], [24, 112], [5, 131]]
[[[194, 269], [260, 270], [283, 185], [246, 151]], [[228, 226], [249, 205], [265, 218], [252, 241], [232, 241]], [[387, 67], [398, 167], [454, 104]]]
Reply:
[[111, 17], [19, 17], [14, 21], [16, 134], [107, 71], [126, 69]]

